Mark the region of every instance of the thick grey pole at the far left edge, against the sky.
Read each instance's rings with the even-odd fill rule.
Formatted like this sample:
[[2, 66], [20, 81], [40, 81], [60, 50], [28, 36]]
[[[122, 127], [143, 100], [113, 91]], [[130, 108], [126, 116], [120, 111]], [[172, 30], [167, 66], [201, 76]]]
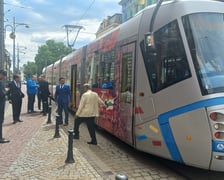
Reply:
[[0, 69], [4, 69], [4, 0], [0, 0]]

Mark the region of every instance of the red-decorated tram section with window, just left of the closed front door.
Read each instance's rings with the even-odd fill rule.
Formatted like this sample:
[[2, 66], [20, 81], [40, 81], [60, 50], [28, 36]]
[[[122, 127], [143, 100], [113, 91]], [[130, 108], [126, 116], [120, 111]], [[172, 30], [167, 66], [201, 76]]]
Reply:
[[96, 40], [87, 47], [85, 63], [85, 81], [92, 84], [105, 102], [106, 108], [100, 108], [100, 116], [96, 124], [114, 134], [115, 109], [117, 102], [116, 83], [116, 40], [119, 30]]

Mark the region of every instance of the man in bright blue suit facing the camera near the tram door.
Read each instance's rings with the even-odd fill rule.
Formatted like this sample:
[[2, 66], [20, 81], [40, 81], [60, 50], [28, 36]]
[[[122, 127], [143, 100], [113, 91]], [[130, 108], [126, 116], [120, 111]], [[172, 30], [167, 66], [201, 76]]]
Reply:
[[71, 103], [71, 89], [65, 84], [65, 78], [59, 78], [59, 84], [55, 90], [55, 103], [58, 106], [58, 115], [60, 115], [60, 124], [63, 124], [62, 110], [65, 112], [64, 126], [68, 125], [68, 107]]

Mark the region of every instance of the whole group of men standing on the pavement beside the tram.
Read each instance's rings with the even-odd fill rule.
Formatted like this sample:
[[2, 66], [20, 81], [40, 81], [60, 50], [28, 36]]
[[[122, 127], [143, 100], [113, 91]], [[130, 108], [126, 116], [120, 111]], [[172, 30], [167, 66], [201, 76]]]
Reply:
[[[12, 104], [13, 124], [23, 122], [20, 118], [22, 101], [25, 97], [21, 89], [21, 77], [20, 75], [13, 75], [13, 80], [9, 82], [7, 88], [5, 88], [5, 80], [7, 73], [4, 70], [0, 70], [0, 143], [8, 143], [9, 140], [3, 138], [2, 124], [4, 122], [5, 101], [8, 97], [8, 101]], [[91, 137], [91, 141], [88, 144], [97, 145], [97, 139], [95, 134], [94, 120], [99, 116], [99, 106], [104, 105], [104, 102], [100, 99], [97, 93], [90, 89], [90, 84], [84, 84], [84, 90], [74, 122], [74, 139], [79, 139], [79, 125], [84, 122], [88, 127], [88, 131]], [[6, 90], [7, 89], [7, 90]], [[27, 113], [32, 114], [37, 111], [34, 110], [34, 103], [37, 96], [39, 112], [46, 116], [48, 113], [48, 97], [51, 96], [49, 91], [49, 83], [45, 80], [45, 76], [38, 77], [33, 75], [27, 79], [26, 94], [28, 98]], [[51, 97], [53, 98], [53, 97]], [[68, 109], [71, 105], [71, 88], [65, 84], [65, 78], [59, 78], [59, 83], [56, 86], [54, 93], [54, 100], [57, 105], [57, 113], [59, 115], [59, 124], [68, 126], [69, 114]], [[41, 109], [42, 106], [42, 109]], [[41, 111], [42, 110], [42, 111]], [[63, 120], [63, 112], [65, 118]]]

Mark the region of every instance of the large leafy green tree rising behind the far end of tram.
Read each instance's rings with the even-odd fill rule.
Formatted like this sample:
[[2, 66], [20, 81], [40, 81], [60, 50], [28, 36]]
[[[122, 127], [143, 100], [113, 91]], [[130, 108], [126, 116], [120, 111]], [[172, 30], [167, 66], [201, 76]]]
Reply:
[[44, 67], [56, 62], [71, 52], [72, 48], [65, 46], [62, 42], [55, 42], [54, 40], [46, 41], [46, 45], [38, 48], [38, 54], [35, 57], [37, 74], [40, 75]]

